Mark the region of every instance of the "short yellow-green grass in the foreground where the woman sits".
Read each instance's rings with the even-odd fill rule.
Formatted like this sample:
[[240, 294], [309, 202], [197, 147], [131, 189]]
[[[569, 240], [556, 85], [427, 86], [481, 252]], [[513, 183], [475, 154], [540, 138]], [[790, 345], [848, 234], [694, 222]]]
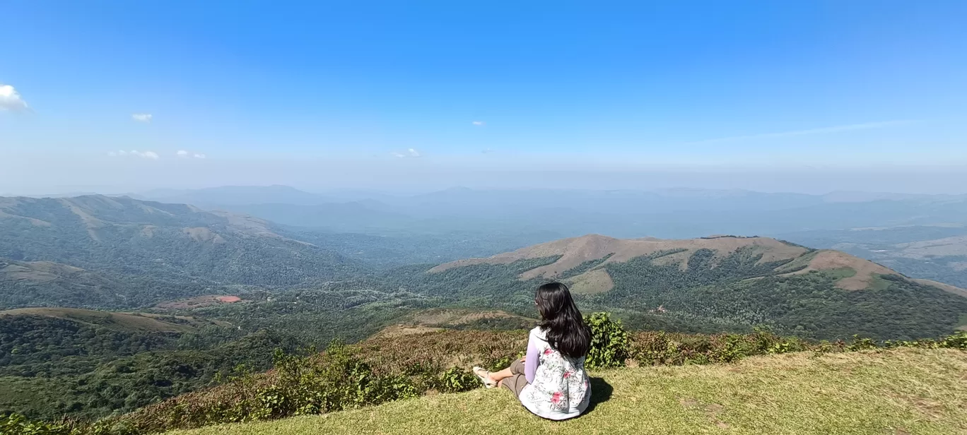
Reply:
[[967, 352], [808, 352], [716, 365], [595, 374], [594, 409], [530, 415], [508, 391], [475, 390], [177, 435], [268, 434], [964, 434]]

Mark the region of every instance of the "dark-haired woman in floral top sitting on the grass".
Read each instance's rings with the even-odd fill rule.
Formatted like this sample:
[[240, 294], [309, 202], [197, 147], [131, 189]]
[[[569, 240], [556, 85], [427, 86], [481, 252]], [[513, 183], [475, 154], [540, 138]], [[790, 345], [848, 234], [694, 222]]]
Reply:
[[542, 285], [534, 304], [541, 312], [541, 325], [531, 330], [527, 356], [494, 373], [474, 367], [474, 374], [488, 389], [504, 386], [513, 391], [520, 403], [539, 417], [577, 417], [587, 409], [591, 398], [588, 374], [584, 371], [591, 332], [567, 285]]

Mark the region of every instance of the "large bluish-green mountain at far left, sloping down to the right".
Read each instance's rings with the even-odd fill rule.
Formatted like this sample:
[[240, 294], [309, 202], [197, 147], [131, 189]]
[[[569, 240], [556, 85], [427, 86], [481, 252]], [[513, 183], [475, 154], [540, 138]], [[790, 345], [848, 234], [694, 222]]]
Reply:
[[[63, 287], [77, 285], [92, 287], [102, 296], [124, 296], [115, 298], [113, 304], [98, 300], [72, 303], [138, 306], [197, 296], [204, 291], [199, 287], [292, 285], [366, 271], [356, 260], [286, 237], [265, 220], [205, 212], [184, 204], [101, 195], [0, 198], [2, 257], [10, 259], [0, 275], [8, 281], [4, 285], [35, 295], [33, 302], [23, 304], [56, 304], [61, 294], [76, 293]], [[81, 276], [82, 271], [39, 262], [62, 263], [101, 276]], [[11, 264], [14, 267], [6, 270]], [[53, 279], [57, 275], [71, 276], [61, 284]], [[12, 280], [26, 284], [11, 284]], [[135, 291], [124, 291], [118, 281], [131, 283]], [[183, 288], [182, 294], [157, 291], [171, 283]], [[24, 289], [25, 285], [30, 288]], [[41, 297], [44, 288], [51, 299]], [[211, 288], [207, 293], [213, 293]]]

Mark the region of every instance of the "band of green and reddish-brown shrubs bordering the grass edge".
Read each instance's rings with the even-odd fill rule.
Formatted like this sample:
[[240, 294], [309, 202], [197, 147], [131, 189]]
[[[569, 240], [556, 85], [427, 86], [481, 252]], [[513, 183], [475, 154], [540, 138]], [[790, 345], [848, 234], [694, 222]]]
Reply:
[[[767, 354], [805, 352], [820, 358], [857, 351], [915, 349], [954, 351], [937, 355], [943, 358], [953, 355], [950, 362], [938, 364], [946, 363], [950, 371], [956, 372], [964, 362], [962, 351], [967, 350], [967, 333], [917, 342], [876, 343], [857, 339], [853, 343], [831, 343], [805, 342], [761, 331], [747, 335], [632, 335], [605, 313], [596, 313], [586, 320], [592, 328], [592, 348], [587, 360], [592, 370], [739, 362]], [[408, 336], [377, 335], [358, 345], [335, 343], [322, 354], [309, 352], [305, 357], [279, 350], [275, 368], [266, 373], [240, 372], [217, 387], [183, 394], [127, 415], [42, 427], [50, 434], [149, 434], [225, 422], [330, 414], [422, 395], [469, 391], [480, 388], [480, 383], [467, 367], [504, 367], [519, 358], [525, 343], [524, 331], [443, 331]], [[943, 385], [938, 388], [946, 389]], [[607, 395], [608, 387], [601, 386], [601, 389]], [[689, 397], [688, 400], [696, 400]], [[19, 419], [12, 417], [6, 424], [14, 428], [33, 424]]]

